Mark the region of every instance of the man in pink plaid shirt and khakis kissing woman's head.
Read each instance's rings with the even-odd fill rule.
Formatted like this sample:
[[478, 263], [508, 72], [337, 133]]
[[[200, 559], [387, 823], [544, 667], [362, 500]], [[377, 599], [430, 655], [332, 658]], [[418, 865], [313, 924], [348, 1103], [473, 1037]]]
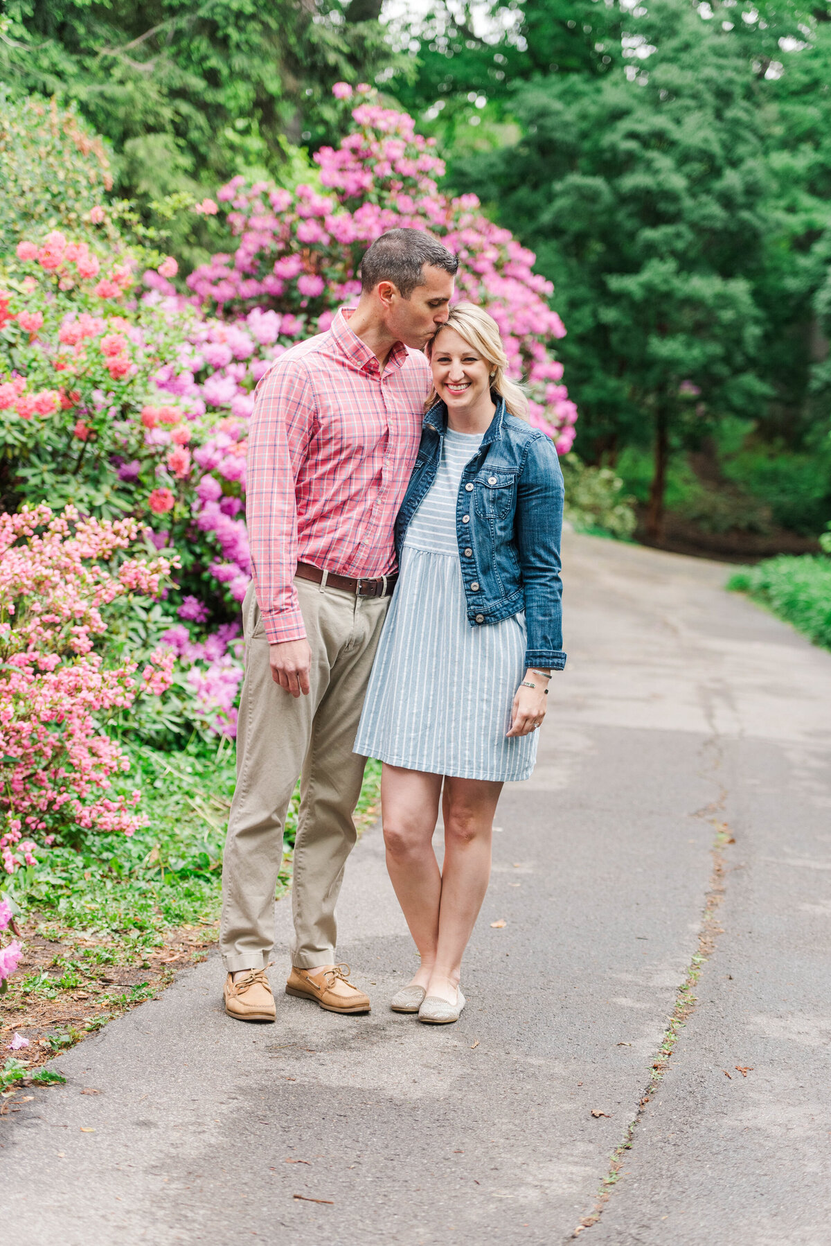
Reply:
[[424, 346], [447, 319], [456, 257], [391, 229], [360, 265], [358, 307], [263, 378], [248, 440], [253, 583], [223, 866], [226, 1011], [274, 1020], [265, 969], [285, 812], [300, 770], [287, 993], [330, 1012], [370, 1001], [335, 959], [335, 902], [365, 759], [353, 754], [396, 578], [392, 528], [431, 388]]

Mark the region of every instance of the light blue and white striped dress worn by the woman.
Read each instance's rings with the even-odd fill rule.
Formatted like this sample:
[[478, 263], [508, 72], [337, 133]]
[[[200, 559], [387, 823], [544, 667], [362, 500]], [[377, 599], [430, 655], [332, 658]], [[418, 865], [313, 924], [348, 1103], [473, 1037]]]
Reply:
[[539, 733], [505, 738], [526, 669], [525, 616], [471, 627], [458, 559], [458, 486], [481, 440], [445, 434], [404, 541], [354, 751], [458, 779], [528, 779]]

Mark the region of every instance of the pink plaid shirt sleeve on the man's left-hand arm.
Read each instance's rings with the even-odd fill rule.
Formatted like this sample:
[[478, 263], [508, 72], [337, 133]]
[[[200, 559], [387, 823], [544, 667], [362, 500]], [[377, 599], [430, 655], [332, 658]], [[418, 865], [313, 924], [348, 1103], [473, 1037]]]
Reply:
[[257, 603], [269, 644], [302, 640], [294, 572], [298, 562], [295, 487], [316, 424], [303, 360], [277, 364], [257, 389], [248, 432], [245, 518]]

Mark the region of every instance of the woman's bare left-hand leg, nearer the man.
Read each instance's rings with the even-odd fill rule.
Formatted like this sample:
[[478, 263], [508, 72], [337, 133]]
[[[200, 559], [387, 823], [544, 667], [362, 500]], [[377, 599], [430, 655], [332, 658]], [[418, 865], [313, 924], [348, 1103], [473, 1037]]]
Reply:
[[421, 954], [421, 966], [411, 983], [425, 989], [439, 944], [441, 873], [432, 835], [439, 819], [440, 792], [441, 775], [384, 763], [381, 810], [386, 868]]

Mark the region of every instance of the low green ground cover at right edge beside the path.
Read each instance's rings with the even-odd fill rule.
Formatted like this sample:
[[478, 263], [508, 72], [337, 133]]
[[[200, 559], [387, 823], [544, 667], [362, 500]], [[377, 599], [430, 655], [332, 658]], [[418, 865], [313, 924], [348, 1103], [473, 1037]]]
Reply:
[[815, 644], [831, 649], [831, 558], [780, 554], [741, 567], [726, 587], [748, 593]]

